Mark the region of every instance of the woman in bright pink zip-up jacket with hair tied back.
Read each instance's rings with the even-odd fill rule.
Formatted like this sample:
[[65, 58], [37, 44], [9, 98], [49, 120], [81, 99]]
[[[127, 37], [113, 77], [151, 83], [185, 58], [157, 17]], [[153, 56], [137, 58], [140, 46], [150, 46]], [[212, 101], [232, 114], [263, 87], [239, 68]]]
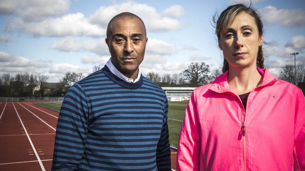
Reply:
[[190, 97], [178, 170], [305, 169], [305, 97], [263, 69], [262, 28], [242, 4], [220, 14], [224, 73]]

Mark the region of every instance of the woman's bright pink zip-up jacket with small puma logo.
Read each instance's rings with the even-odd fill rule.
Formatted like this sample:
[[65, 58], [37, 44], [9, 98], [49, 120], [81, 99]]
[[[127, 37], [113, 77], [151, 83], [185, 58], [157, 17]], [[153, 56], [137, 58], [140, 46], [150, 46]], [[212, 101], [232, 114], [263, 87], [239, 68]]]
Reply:
[[[305, 97], [259, 69], [245, 112], [228, 72], [196, 88], [178, 144], [178, 170], [305, 170]], [[243, 124], [244, 123], [244, 124]]]

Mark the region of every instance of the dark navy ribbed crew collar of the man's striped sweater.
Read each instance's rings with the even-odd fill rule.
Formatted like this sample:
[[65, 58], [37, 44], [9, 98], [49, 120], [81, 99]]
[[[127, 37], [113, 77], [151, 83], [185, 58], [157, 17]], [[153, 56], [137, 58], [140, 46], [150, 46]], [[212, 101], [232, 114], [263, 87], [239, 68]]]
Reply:
[[139, 81], [137, 81], [136, 83], [128, 83], [127, 81], [119, 78], [118, 76], [114, 75], [109, 68], [105, 65], [104, 68], [102, 68], [102, 71], [104, 72], [104, 74], [111, 79], [113, 82], [117, 83], [118, 85], [125, 87], [125, 88], [129, 88], [129, 89], [136, 89], [142, 86], [143, 84], [143, 76], [141, 74], [141, 77], [139, 79]]

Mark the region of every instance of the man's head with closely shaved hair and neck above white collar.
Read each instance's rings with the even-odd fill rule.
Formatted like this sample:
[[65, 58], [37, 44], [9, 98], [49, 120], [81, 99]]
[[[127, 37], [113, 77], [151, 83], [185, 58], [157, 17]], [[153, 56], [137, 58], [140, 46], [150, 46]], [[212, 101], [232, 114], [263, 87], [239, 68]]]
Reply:
[[147, 43], [143, 21], [130, 12], [114, 16], [108, 24], [105, 41], [113, 65], [125, 76], [136, 78]]

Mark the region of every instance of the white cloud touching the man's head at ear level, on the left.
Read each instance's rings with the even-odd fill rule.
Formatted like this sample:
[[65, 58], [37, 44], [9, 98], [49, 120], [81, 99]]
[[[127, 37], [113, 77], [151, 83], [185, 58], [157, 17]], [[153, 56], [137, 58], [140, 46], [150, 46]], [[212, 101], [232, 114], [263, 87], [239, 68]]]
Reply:
[[99, 39], [95, 42], [91, 39], [80, 40], [71, 37], [63, 38], [55, 41], [51, 46], [52, 49], [57, 49], [64, 52], [93, 52], [98, 55], [109, 55], [108, 46], [105, 39]]

